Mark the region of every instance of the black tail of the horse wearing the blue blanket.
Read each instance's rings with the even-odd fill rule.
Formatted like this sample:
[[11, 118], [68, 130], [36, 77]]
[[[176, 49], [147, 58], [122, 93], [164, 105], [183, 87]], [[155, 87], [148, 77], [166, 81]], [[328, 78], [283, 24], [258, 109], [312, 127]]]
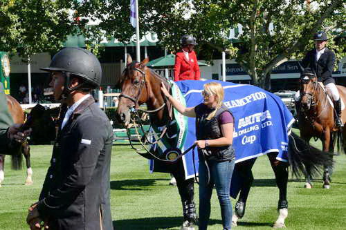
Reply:
[[333, 153], [320, 151], [310, 146], [293, 132], [289, 135], [288, 152], [292, 174], [297, 178], [302, 175], [320, 175], [322, 173], [321, 166], [333, 165]]

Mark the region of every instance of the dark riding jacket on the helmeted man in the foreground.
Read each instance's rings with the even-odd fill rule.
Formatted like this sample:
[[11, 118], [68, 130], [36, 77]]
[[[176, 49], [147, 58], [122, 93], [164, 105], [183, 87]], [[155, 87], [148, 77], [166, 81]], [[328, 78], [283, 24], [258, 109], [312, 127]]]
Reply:
[[[61, 126], [61, 125], [60, 125]], [[37, 205], [49, 229], [111, 230], [109, 170], [113, 132], [92, 97], [59, 131]]]

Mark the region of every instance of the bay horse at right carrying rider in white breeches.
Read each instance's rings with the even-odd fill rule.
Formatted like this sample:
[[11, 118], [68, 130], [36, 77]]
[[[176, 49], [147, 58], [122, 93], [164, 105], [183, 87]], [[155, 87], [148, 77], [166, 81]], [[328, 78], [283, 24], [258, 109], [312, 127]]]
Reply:
[[[300, 137], [309, 142], [311, 137], [320, 139], [322, 151], [334, 153], [335, 145], [338, 152], [346, 153], [346, 128], [338, 128], [335, 125], [334, 107], [332, 99], [328, 99], [327, 90], [322, 83], [318, 82], [316, 73], [310, 69], [305, 69], [300, 76], [300, 101], [298, 107], [298, 124]], [[336, 86], [340, 93], [340, 98], [346, 102], [346, 88]], [[331, 98], [331, 97], [330, 97]], [[341, 119], [346, 124], [346, 109], [341, 113]], [[330, 188], [331, 169], [324, 167], [323, 185], [325, 189]], [[311, 189], [311, 177], [307, 175], [305, 187]]]

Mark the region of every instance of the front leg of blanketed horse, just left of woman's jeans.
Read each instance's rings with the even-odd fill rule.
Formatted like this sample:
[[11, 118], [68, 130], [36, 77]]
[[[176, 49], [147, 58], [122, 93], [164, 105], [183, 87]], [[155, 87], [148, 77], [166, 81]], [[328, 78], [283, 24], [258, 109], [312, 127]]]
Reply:
[[197, 224], [197, 213], [194, 204], [194, 178], [185, 180], [183, 163], [179, 162], [178, 164], [177, 170], [172, 174], [176, 178], [176, 186], [183, 205], [184, 221], [181, 230], [194, 230], [194, 226]]

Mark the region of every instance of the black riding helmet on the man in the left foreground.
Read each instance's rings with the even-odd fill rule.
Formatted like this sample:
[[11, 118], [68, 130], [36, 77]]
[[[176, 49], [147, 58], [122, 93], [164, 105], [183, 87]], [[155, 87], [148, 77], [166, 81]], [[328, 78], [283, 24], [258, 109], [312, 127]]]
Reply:
[[89, 88], [100, 86], [102, 69], [100, 61], [89, 50], [83, 48], [63, 48], [51, 60], [45, 71], [62, 71], [85, 80]]

